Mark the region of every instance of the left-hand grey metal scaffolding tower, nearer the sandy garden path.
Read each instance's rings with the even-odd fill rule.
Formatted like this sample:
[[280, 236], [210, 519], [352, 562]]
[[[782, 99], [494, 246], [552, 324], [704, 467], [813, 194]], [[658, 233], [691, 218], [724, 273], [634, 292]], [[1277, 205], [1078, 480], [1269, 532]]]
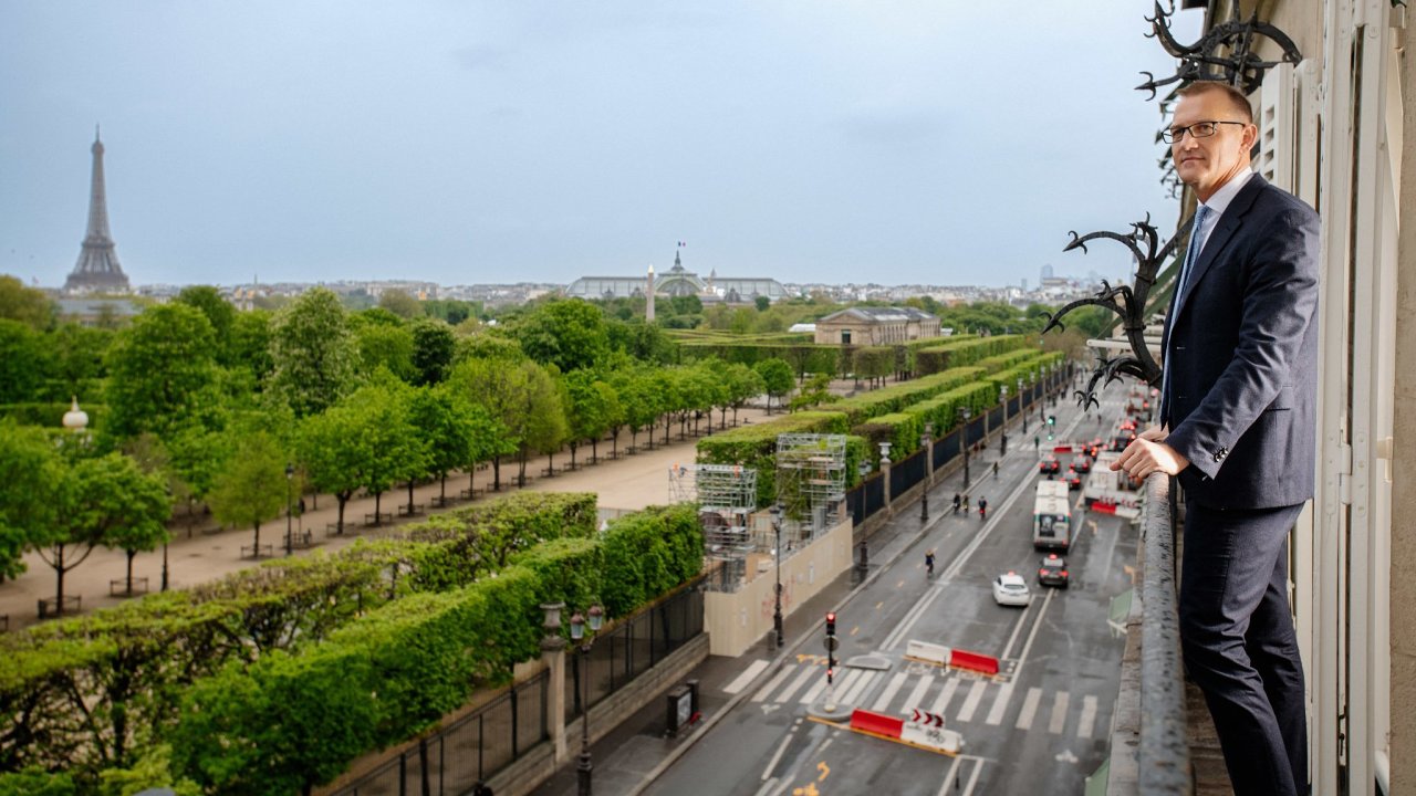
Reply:
[[[749, 518], [758, 500], [758, 470], [736, 465], [675, 465], [668, 470], [671, 501], [697, 501], [704, 555], [711, 572], [705, 586], [735, 592], [748, 579], [749, 558], [760, 558]], [[770, 544], [767, 545], [770, 547]]]

